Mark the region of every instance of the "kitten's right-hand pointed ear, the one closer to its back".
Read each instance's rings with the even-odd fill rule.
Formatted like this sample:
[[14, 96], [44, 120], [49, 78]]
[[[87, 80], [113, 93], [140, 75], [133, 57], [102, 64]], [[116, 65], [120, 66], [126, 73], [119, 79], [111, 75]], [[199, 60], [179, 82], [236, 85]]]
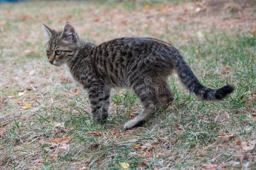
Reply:
[[67, 23], [60, 35], [60, 38], [66, 39], [67, 41], [75, 41], [78, 39], [78, 34], [76, 33], [73, 25]]

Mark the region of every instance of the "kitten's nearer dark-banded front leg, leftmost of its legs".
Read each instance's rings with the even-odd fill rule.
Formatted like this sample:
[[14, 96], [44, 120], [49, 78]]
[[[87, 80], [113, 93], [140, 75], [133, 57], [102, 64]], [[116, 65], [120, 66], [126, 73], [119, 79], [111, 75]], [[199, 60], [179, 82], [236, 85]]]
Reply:
[[91, 105], [91, 116], [100, 121], [101, 107], [103, 106], [104, 88], [101, 85], [92, 85], [89, 89], [89, 101]]

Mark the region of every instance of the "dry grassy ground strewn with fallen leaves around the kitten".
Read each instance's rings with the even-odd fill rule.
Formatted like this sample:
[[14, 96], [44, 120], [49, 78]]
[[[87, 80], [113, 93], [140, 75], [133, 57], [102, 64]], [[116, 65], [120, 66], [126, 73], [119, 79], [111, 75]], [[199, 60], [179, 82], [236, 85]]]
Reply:
[[[254, 1], [27, 1], [0, 4], [0, 168], [255, 169]], [[170, 41], [204, 86], [235, 91], [199, 101], [174, 73], [172, 105], [124, 131], [140, 103], [114, 91], [105, 124], [90, 119], [86, 91], [50, 65], [42, 23], [73, 24], [84, 41]]]

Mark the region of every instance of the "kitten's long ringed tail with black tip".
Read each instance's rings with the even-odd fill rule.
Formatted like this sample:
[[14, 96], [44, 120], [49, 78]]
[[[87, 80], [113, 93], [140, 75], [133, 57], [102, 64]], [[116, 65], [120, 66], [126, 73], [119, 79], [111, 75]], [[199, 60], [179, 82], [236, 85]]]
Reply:
[[234, 88], [230, 85], [226, 85], [220, 89], [209, 89], [204, 87], [193, 74], [188, 64], [184, 61], [181, 54], [177, 51], [172, 53], [172, 60], [174, 67], [178, 73], [180, 81], [185, 87], [196, 94], [199, 99], [202, 100], [222, 100], [229, 93], [234, 91]]

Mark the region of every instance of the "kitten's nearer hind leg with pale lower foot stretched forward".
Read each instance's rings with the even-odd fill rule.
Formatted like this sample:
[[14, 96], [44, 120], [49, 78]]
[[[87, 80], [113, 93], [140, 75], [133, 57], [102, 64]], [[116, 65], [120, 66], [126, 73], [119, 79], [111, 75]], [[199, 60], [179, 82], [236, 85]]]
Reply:
[[134, 91], [143, 103], [144, 110], [141, 111], [139, 116], [133, 118], [124, 125], [125, 130], [142, 126], [144, 123], [147, 123], [162, 106], [156, 92], [152, 91], [152, 87], [148, 85], [140, 85], [140, 87], [134, 88]]

